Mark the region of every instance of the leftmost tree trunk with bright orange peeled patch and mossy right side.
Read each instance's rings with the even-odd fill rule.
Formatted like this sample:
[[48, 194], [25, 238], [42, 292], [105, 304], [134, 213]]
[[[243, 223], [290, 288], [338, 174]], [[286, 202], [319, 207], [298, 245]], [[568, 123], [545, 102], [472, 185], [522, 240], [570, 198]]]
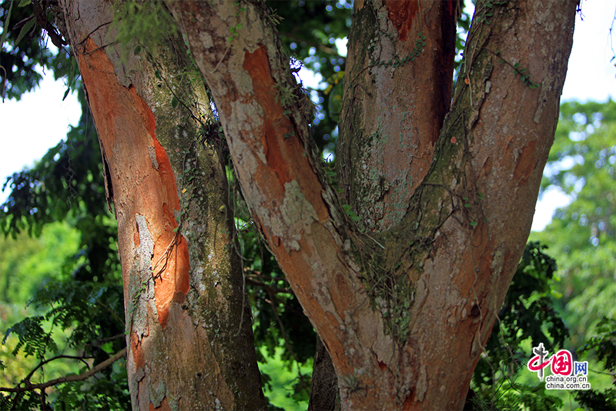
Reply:
[[178, 36], [140, 55], [114, 42], [120, 7], [62, 3], [118, 220], [133, 409], [264, 409], [205, 89]]

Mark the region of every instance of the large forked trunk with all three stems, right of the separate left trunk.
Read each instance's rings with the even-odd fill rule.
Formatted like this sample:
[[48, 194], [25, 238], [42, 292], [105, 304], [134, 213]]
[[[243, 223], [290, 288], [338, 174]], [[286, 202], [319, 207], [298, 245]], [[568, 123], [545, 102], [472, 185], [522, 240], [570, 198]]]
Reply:
[[[351, 206], [361, 212], [368, 196], [378, 207], [374, 221], [363, 216], [370, 235], [321, 177], [304, 97], [264, 6], [168, 3], [254, 219], [331, 354], [342, 408], [461, 408], [530, 230], [576, 1], [478, 2], [442, 127], [455, 12], [441, 2], [356, 2], [363, 29], [350, 39], [348, 73], [357, 75], [345, 80], [340, 127], [354, 134], [342, 136], [339, 167], [350, 170], [345, 181], [358, 179], [346, 190]], [[429, 49], [405, 60], [417, 45]], [[420, 87], [407, 76], [422, 68]], [[396, 173], [381, 164], [390, 158]]]

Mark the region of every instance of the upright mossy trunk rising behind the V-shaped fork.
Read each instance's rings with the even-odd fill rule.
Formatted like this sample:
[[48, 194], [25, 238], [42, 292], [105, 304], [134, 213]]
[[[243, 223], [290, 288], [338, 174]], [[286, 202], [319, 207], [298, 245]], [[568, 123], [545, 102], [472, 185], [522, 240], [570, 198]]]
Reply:
[[355, 3], [337, 177], [359, 226], [400, 223], [451, 101], [457, 1]]

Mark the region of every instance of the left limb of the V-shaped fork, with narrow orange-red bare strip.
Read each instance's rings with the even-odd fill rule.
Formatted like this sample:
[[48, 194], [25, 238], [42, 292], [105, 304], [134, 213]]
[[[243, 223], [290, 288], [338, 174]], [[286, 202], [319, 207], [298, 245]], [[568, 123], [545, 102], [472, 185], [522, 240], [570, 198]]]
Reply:
[[[345, 310], [352, 307], [359, 317], [361, 307], [365, 323], [378, 323], [378, 314], [365, 303], [359, 267], [347, 253], [361, 234], [353, 234], [336, 195], [320, 175], [303, 110], [305, 97], [265, 8], [228, 1], [168, 5], [212, 92], [255, 222], [292, 288], [303, 291], [296, 295], [326, 336], [329, 349], [344, 355], [353, 340], [346, 330], [355, 327], [341, 326], [354, 321]], [[241, 27], [232, 39], [231, 23], [233, 30]], [[323, 318], [329, 319], [329, 326], [323, 327], [318, 320]], [[351, 362], [344, 361], [348, 369]]]

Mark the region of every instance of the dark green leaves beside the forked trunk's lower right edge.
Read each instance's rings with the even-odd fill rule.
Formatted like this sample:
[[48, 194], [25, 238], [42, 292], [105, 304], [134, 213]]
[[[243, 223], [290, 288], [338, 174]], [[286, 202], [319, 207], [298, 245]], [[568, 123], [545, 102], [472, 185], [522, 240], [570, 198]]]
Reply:
[[560, 408], [559, 398], [546, 393], [543, 385], [517, 381], [519, 371], [526, 371], [530, 339], [556, 351], [563, 347], [569, 332], [554, 310], [552, 298], [556, 262], [543, 252], [547, 247], [529, 242], [513, 276], [509, 292], [499, 313], [499, 320], [485, 346], [485, 357], [473, 375], [473, 406], [476, 410], [519, 409], [553, 410]]

